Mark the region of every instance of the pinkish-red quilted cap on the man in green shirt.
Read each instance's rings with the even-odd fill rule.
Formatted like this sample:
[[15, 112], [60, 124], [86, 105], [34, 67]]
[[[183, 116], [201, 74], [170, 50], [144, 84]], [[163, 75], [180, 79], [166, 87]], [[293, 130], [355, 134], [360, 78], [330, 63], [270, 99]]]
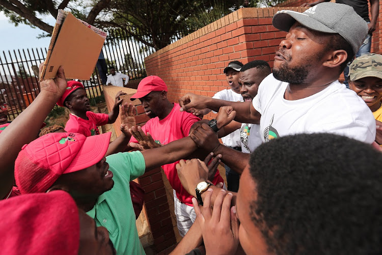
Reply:
[[61, 174], [95, 165], [105, 156], [111, 134], [50, 133], [25, 144], [15, 161], [21, 194], [45, 192]]

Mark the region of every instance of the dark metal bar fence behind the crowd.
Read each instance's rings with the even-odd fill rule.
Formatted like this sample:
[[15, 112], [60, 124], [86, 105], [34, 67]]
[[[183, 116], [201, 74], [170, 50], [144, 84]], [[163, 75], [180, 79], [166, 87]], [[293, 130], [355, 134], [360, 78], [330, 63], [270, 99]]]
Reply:
[[[147, 46], [139, 38], [150, 40], [150, 35], [139, 34], [134, 28], [112, 29], [102, 48], [104, 69], [95, 68], [89, 81], [84, 84], [90, 98], [102, 94], [103, 77], [108, 73], [108, 67], [114, 66], [116, 71], [127, 74], [130, 81], [146, 77], [145, 57], [155, 49]], [[190, 31], [181, 31], [170, 37], [174, 42]], [[133, 36], [131, 36], [133, 35]], [[17, 49], [3, 51], [0, 54], [0, 93], [9, 105], [9, 117], [14, 119], [40, 92], [38, 84], [38, 66], [45, 60], [47, 48]], [[86, 60], [84, 60], [86, 61]], [[105, 81], [103, 81], [105, 83]]]

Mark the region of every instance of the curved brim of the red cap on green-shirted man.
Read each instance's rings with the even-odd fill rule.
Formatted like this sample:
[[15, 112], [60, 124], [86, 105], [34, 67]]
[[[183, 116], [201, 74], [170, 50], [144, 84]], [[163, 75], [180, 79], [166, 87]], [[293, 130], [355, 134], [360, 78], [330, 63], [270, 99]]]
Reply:
[[89, 136], [64, 173], [71, 173], [97, 164], [105, 156], [112, 133]]

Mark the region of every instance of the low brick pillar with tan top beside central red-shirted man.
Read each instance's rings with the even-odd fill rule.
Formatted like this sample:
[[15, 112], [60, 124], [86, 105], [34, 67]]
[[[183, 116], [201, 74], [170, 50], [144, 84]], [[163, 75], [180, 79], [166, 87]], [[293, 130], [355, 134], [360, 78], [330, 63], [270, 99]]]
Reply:
[[[137, 91], [132, 88], [121, 88], [116, 86], [103, 86], [103, 93], [105, 96], [105, 101], [109, 112], [115, 104], [115, 95], [118, 91], [122, 90], [126, 95], [122, 96], [124, 102], [132, 103], [137, 106], [138, 115], [135, 116], [135, 120], [138, 125], [144, 125], [149, 117], [146, 116], [141, 103], [138, 99], [133, 101], [130, 97]], [[121, 119], [117, 118], [116, 122], [113, 124], [114, 130], [117, 136], [121, 135], [120, 126]], [[154, 247], [157, 252], [166, 249], [176, 243], [175, 234], [173, 230], [173, 224], [171, 221], [169, 202], [166, 196], [166, 189], [163, 184], [161, 169], [158, 167], [151, 170], [137, 180], [145, 190], [145, 203], [142, 213], [147, 219], [151, 235], [154, 240]]]

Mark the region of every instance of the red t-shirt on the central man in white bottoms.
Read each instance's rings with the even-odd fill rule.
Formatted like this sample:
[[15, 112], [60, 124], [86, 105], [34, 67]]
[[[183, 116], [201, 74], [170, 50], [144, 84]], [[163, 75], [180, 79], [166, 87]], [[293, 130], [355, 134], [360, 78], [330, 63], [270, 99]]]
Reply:
[[[149, 119], [142, 127], [143, 132], [145, 132], [145, 134], [149, 132], [155, 142], [159, 144], [168, 144], [172, 141], [187, 137], [191, 126], [200, 119], [192, 113], [180, 112], [179, 109], [179, 104], [175, 103], [174, 108], [166, 118], [162, 120], [159, 120], [158, 117]], [[137, 140], [131, 137], [130, 142], [137, 142]], [[193, 206], [191, 200], [193, 196], [188, 194], [180, 183], [178, 172], [175, 168], [178, 162], [179, 161], [162, 166], [163, 171], [165, 171], [167, 179], [169, 179], [172, 188], [176, 191], [176, 196], [179, 200], [188, 206]], [[224, 182], [223, 178], [220, 176], [219, 170], [217, 170], [212, 183], [216, 185], [222, 182]]]

